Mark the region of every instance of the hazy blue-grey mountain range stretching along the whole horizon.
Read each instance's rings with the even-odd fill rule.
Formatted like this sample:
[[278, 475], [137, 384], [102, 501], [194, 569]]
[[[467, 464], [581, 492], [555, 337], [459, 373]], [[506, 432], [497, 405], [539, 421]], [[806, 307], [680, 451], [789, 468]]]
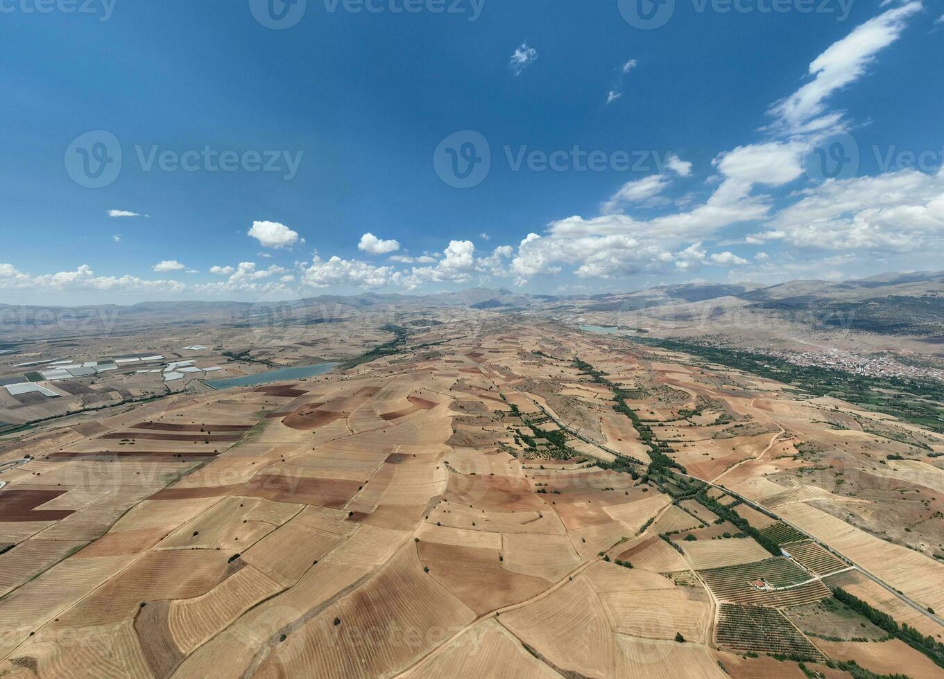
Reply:
[[[66, 315], [81, 323], [120, 317], [123, 322], [236, 323], [251, 325], [258, 317], [278, 314], [309, 323], [340, 319], [350, 313], [423, 308], [464, 307], [497, 313], [536, 313], [559, 319], [614, 312], [658, 313], [685, 305], [696, 308], [717, 301], [718, 308], [738, 306], [779, 314], [791, 321], [829, 328], [916, 336], [944, 335], [944, 272], [882, 273], [861, 280], [834, 283], [796, 280], [775, 286], [755, 283], [671, 285], [593, 295], [525, 294], [501, 288], [475, 288], [436, 294], [364, 292], [319, 295], [283, 302], [142, 302], [131, 306], [10, 306], [0, 304], [0, 319], [49, 326]], [[723, 315], [723, 314], [722, 314]], [[618, 320], [617, 320], [618, 323]]]

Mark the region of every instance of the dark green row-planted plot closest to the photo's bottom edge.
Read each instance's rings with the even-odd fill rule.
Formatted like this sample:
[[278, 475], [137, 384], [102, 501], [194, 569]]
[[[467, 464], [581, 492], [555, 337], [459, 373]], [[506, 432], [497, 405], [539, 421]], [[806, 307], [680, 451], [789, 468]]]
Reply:
[[825, 656], [774, 608], [721, 604], [716, 643], [737, 653], [764, 653], [824, 661]]

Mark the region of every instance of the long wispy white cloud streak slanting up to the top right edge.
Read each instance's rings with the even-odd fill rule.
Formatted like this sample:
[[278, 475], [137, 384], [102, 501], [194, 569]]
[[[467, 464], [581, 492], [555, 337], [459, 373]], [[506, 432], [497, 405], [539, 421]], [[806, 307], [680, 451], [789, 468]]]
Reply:
[[813, 80], [770, 108], [775, 126], [797, 134], [838, 124], [841, 114], [827, 113], [826, 100], [864, 75], [875, 55], [901, 37], [906, 20], [920, 9], [917, 0], [888, 9], [831, 44], [810, 64]]

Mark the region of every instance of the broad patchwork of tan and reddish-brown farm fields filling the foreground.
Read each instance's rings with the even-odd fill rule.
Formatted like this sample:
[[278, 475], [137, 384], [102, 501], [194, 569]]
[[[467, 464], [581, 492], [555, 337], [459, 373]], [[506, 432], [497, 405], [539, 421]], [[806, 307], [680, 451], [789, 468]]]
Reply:
[[555, 323], [424, 313], [266, 355], [316, 349], [328, 373], [190, 378], [0, 436], [0, 676], [886, 668], [877, 628], [828, 645], [839, 587], [944, 635], [934, 458], [837, 437], [854, 407]]

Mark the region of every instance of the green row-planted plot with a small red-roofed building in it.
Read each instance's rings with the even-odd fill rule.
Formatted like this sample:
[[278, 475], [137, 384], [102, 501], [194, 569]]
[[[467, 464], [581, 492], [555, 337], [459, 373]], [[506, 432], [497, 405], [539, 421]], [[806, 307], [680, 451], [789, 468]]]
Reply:
[[[809, 573], [780, 556], [750, 564], [699, 571], [699, 575], [717, 599], [733, 604], [787, 608], [816, 604], [831, 595], [830, 589], [818, 580], [806, 582], [810, 579]], [[760, 581], [769, 588], [754, 584]]]

